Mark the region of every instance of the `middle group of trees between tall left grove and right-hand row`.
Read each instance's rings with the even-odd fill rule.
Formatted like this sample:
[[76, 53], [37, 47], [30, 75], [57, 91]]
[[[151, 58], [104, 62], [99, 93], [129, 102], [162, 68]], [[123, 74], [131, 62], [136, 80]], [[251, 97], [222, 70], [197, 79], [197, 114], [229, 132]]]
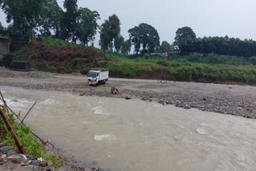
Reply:
[[120, 34], [120, 20], [115, 14], [106, 20], [100, 30], [100, 46], [103, 50], [114, 50], [117, 53], [129, 54], [131, 46], [134, 46], [135, 54], [146, 54], [152, 52], [169, 52], [170, 44], [163, 42], [160, 46], [158, 31], [146, 23], [128, 30], [130, 38], [125, 39]]

